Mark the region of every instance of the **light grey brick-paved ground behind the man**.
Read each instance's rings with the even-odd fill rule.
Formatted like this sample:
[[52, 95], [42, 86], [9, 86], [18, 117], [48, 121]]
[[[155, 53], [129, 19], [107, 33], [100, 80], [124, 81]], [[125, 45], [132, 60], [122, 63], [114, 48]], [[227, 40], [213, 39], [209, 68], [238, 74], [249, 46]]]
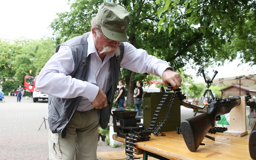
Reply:
[[[48, 102], [26, 100], [23, 97], [5, 96], [0, 102], [0, 160], [47, 160], [48, 159], [48, 121], [46, 128], [43, 117], [48, 119]], [[99, 141], [98, 151], [124, 150], [111, 148]]]

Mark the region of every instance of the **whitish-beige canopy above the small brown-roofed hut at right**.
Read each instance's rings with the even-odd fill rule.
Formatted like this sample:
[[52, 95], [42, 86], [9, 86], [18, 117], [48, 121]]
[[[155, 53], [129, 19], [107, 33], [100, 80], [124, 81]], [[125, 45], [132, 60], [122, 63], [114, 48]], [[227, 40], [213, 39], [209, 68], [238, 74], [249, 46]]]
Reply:
[[213, 84], [256, 85], [256, 73], [238, 69], [219, 71], [213, 79]]

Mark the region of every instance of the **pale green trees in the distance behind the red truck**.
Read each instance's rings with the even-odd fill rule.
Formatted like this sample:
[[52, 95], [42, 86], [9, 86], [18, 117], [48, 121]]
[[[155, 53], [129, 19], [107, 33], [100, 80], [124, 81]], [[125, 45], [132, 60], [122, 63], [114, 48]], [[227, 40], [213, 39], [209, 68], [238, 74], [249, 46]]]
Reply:
[[24, 76], [36, 76], [55, 53], [55, 41], [17, 39], [14, 43], [0, 41], [0, 80], [8, 93], [24, 85]]

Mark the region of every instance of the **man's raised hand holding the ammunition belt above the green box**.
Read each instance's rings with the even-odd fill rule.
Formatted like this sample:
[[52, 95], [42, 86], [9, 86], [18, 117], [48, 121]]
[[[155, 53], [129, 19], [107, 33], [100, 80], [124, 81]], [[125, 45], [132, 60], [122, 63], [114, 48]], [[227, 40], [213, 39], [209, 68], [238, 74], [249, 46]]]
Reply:
[[170, 84], [173, 87], [173, 90], [178, 88], [182, 82], [180, 74], [175, 71], [171, 71], [170, 69], [166, 69], [164, 71], [162, 74], [162, 80], [166, 87]]

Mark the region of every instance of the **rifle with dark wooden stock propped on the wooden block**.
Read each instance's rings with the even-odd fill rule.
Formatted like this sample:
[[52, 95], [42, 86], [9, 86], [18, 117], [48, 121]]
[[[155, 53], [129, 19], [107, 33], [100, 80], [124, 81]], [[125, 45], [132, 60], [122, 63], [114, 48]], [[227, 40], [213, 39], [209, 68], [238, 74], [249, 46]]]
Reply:
[[[248, 101], [251, 98], [249, 92], [245, 96]], [[181, 122], [181, 132], [187, 148], [194, 152], [197, 150], [210, 128], [215, 127], [215, 121], [220, 120], [220, 115], [229, 113], [232, 108], [240, 105], [241, 96], [230, 98], [215, 98], [208, 105], [208, 112], [188, 118]]]

